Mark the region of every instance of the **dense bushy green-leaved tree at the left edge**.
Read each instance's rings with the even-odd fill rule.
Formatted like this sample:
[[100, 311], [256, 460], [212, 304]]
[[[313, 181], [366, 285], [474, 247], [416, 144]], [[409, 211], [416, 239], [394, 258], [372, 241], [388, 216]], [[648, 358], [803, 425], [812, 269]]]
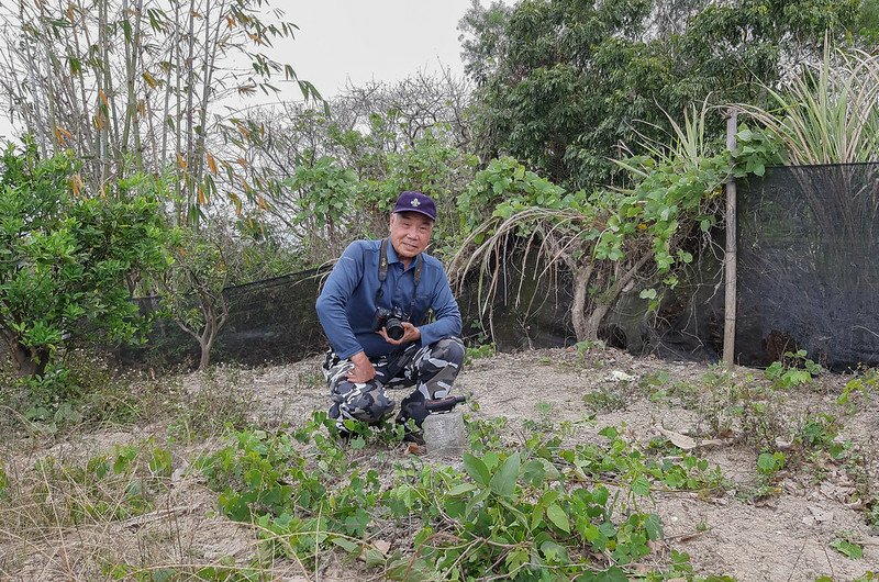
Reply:
[[151, 179], [87, 197], [70, 155], [41, 158], [33, 141], [9, 144], [0, 171], [0, 336], [19, 376], [81, 342], [136, 339], [130, 282], [167, 266]]

